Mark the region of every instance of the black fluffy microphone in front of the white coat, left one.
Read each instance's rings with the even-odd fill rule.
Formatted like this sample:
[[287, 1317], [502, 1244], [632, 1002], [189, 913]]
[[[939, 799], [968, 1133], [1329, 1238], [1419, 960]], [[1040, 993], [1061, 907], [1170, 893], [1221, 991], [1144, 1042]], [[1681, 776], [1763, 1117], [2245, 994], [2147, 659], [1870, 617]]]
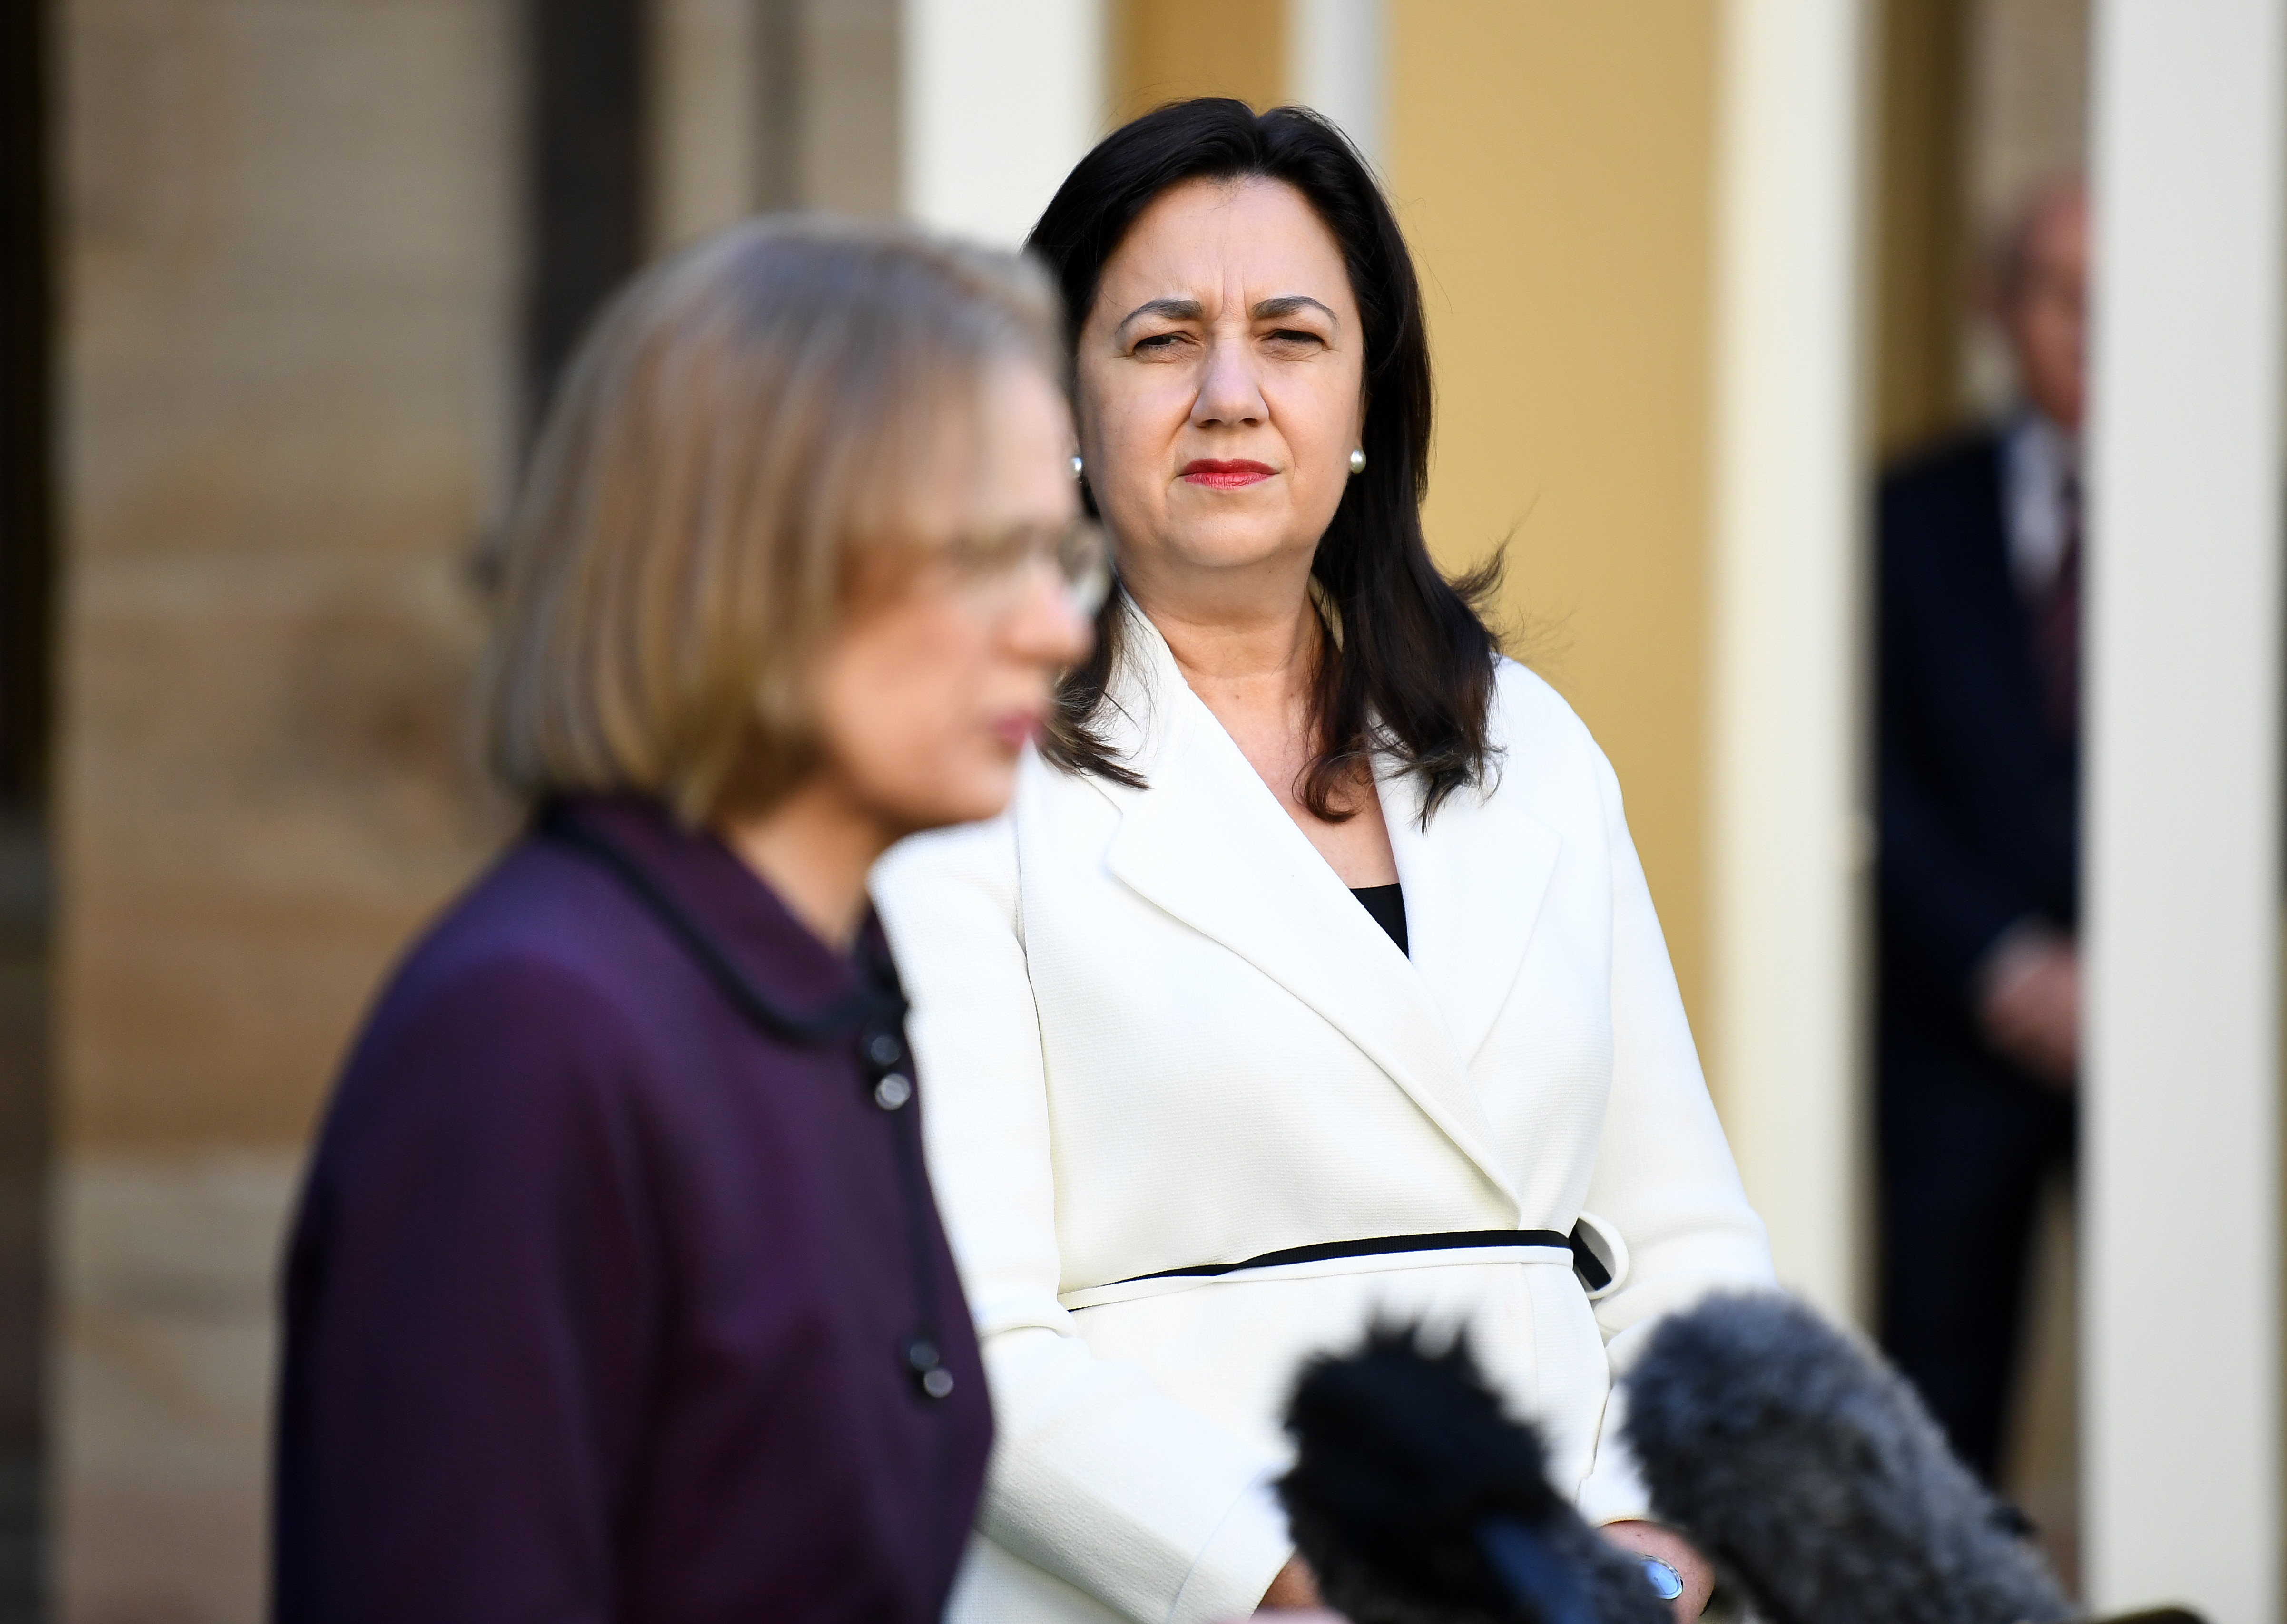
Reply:
[[1377, 1324], [1304, 1366], [1278, 1480], [1294, 1546], [1352, 1624], [1672, 1624], [1642, 1565], [1560, 1496], [1466, 1334]]

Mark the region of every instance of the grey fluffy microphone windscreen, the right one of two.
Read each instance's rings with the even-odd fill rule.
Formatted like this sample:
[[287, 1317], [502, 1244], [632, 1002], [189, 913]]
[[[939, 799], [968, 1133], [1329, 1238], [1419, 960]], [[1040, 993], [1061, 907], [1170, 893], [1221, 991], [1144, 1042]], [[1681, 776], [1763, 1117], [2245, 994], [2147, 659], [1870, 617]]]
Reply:
[[1777, 1292], [1663, 1320], [1626, 1375], [1654, 1512], [1775, 1624], [2056, 1624], [2022, 1519], [1907, 1382]]

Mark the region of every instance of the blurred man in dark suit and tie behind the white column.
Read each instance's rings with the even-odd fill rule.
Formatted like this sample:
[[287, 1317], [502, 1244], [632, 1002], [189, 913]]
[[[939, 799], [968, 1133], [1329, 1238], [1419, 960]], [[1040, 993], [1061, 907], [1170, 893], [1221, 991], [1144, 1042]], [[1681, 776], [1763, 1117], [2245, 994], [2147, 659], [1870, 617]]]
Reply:
[[2088, 208], [2038, 190], [1992, 279], [2019, 407], [1880, 492], [1882, 1343], [1987, 1480], [2079, 1075]]

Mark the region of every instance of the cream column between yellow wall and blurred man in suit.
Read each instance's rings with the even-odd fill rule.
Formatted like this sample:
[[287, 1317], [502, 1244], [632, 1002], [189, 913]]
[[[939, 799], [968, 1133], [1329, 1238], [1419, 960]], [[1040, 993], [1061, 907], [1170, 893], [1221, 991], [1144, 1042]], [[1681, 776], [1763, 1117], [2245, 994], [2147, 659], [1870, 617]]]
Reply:
[[1779, 1276], [1859, 1308], [1871, 7], [1729, 0], [1718, 178], [1708, 1070]]

